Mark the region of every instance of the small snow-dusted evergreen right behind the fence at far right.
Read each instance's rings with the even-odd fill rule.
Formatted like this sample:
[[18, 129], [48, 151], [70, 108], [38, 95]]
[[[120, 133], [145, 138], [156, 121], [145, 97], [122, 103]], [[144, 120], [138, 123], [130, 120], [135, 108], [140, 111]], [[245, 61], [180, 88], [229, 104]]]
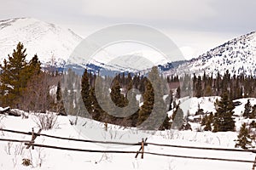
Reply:
[[244, 150], [247, 150], [248, 148], [250, 148], [252, 146], [252, 140], [251, 137], [249, 135], [249, 130], [246, 127], [246, 123], [243, 123], [241, 125], [241, 129], [239, 131], [239, 134], [237, 136], [238, 139], [236, 139], [236, 145], [235, 147], [241, 147]]

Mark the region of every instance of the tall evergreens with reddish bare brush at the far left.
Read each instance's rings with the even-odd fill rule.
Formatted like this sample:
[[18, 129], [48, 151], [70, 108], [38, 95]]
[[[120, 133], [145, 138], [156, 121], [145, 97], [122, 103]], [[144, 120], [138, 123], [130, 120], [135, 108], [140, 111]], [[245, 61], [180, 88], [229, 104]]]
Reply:
[[50, 95], [49, 88], [60, 81], [60, 76], [42, 71], [37, 54], [27, 61], [26, 48], [21, 42], [13, 54], [3, 60], [0, 79], [1, 106], [25, 111], [56, 111], [56, 107], [59, 108], [55, 102], [58, 94]]

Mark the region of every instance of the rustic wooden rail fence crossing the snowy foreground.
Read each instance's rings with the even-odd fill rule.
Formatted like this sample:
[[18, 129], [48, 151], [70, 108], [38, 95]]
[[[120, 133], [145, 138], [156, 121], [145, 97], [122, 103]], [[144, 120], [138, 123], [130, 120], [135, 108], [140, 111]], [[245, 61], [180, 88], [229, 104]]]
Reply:
[[[0, 131], [9, 132], [9, 133], [20, 133], [26, 135], [32, 135], [32, 140], [20, 140], [20, 139], [0, 139], [0, 141], [9, 141], [9, 142], [20, 142], [25, 143], [27, 149], [32, 146], [33, 147], [42, 147], [42, 148], [49, 148], [49, 149], [56, 149], [56, 150], [73, 150], [73, 151], [82, 151], [82, 152], [95, 152], [95, 153], [123, 153], [123, 154], [148, 154], [153, 156], [170, 156], [170, 157], [178, 157], [178, 158], [189, 158], [189, 159], [201, 159], [201, 160], [213, 160], [213, 161], [236, 161], [236, 162], [245, 162], [245, 163], [253, 163], [253, 168], [256, 165], [256, 157], [254, 161], [247, 161], [247, 160], [237, 160], [237, 159], [225, 159], [225, 158], [215, 158], [215, 157], [200, 157], [200, 156], [179, 156], [179, 155], [172, 155], [172, 154], [160, 154], [154, 152], [144, 151], [144, 146], [147, 145], [155, 145], [155, 146], [164, 146], [164, 147], [175, 147], [175, 148], [183, 148], [183, 149], [195, 149], [195, 150], [218, 150], [218, 151], [237, 151], [237, 152], [251, 152], [256, 153], [256, 150], [241, 150], [241, 149], [224, 149], [224, 148], [206, 148], [206, 147], [196, 147], [196, 146], [185, 146], [185, 145], [175, 145], [175, 144], [156, 144], [147, 142], [147, 139], [143, 139], [142, 142], [137, 143], [123, 143], [123, 142], [111, 142], [111, 141], [98, 141], [98, 140], [87, 140], [87, 139], [70, 139], [64, 138], [49, 134], [41, 133], [41, 129], [38, 133], [35, 133], [32, 129], [32, 132], [21, 132], [9, 129], [0, 128]], [[98, 144], [122, 144], [122, 145], [140, 145], [141, 148], [138, 151], [124, 151], [124, 150], [85, 150], [85, 149], [77, 149], [77, 148], [67, 148], [67, 147], [60, 147], [54, 145], [47, 145], [47, 144], [35, 144], [34, 140], [39, 137], [44, 136], [53, 139], [63, 139], [63, 140], [72, 140], [78, 142], [87, 142], [87, 143], [98, 143]], [[142, 150], [142, 151], [141, 151]]]

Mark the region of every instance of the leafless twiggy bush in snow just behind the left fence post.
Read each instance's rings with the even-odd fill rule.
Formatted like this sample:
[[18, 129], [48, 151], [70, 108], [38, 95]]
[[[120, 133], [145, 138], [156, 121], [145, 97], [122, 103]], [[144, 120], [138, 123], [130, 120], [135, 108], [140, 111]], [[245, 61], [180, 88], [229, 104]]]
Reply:
[[33, 121], [43, 130], [49, 130], [57, 127], [57, 116], [53, 113], [36, 114]]

